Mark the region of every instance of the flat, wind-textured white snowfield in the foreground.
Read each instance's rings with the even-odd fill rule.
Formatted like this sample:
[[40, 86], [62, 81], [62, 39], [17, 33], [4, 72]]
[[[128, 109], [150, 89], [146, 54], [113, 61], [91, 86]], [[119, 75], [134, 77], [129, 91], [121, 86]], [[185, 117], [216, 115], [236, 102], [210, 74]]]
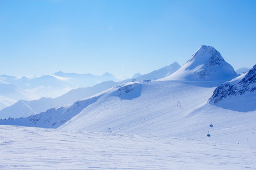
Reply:
[[256, 147], [0, 126], [0, 169], [256, 169]]

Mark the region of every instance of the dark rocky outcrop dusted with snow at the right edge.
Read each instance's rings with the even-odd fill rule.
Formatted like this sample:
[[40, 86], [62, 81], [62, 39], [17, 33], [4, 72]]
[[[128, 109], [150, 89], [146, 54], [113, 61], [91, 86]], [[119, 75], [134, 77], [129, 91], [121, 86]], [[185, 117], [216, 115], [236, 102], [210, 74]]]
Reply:
[[218, 101], [227, 97], [243, 95], [256, 91], [256, 65], [245, 75], [241, 75], [237, 79], [221, 84], [214, 90], [209, 102], [216, 104]]

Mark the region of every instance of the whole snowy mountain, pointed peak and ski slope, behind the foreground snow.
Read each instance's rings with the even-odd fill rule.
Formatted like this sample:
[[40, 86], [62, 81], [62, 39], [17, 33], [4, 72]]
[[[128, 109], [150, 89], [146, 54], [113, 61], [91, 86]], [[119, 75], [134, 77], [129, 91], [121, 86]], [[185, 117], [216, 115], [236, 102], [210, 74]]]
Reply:
[[[185, 70], [184, 66], [189, 69]], [[170, 80], [170, 75], [166, 77], [167, 80], [119, 84], [71, 105], [49, 109], [27, 118], [1, 120], [0, 124], [255, 145], [253, 130], [256, 130], [256, 109], [255, 100], [250, 100], [253, 98], [241, 95], [240, 100], [248, 103], [247, 111], [232, 109], [233, 103], [225, 103], [226, 107], [208, 103], [217, 83], [224, 81], [224, 78], [237, 76], [233, 67], [216, 50], [207, 46], [202, 46], [184, 66], [179, 69], [183, 72], [177, 71], [184, 80]], [[224, 74], [220, 75], [223, 79], [216, 79], [221, 73]], [[200, 75], [204, 75], [204, 78]], [[250, 84], [249, 79], [251, 76], [243, 80], [244, 84]], [[242, 109], [242, 106], [239, 107]], [[210, 124], [213, 124], [213, 128]], [[207, 137], [208, 133], [210, 138]]]

